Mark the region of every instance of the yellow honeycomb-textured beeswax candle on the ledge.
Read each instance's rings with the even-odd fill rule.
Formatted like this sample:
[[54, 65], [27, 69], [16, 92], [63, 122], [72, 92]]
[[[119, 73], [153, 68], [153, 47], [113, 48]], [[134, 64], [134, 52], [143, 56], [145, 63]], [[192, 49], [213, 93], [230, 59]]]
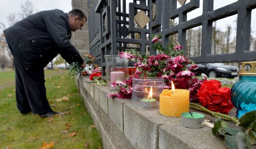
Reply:
[[164, 89], [160, 94], [159, 106], [162, 115], [168, 117], [181, 117], [182, 113], [189, 112], [189, 90]]

